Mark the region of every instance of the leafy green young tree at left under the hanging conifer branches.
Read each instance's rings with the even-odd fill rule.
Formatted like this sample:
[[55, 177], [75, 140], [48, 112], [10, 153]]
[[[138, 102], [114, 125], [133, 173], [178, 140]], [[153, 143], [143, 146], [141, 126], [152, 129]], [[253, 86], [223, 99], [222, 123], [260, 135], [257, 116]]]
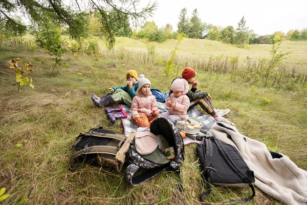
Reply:
[[[68, 69], [67, 65], [61, 61], [61, 56], [65, 52], [65, 42], [60, 39], [60, 36], [60, 29], [51, 20], [38, 24], [38, 30], [35, 33], [35, 42], [53, 56], [52, 76], [54, 76], [55, 70], [57, 70], [57, 74], [62, 67]], [[79, 40], [81, 41], [80, 38]]]

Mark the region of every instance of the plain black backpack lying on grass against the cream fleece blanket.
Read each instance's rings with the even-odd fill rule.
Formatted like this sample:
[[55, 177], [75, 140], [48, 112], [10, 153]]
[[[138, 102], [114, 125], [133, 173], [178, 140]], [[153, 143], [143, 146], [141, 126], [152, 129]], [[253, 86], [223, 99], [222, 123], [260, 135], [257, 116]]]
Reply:
[[203, 192], [200, 200], [211, 192], [210, 183], [216, 186], [248, 188], [253, 191], [252, 196], [230, 202], [245, 203], [255, 196], [253, 184], [254, 172], [248, 168], [238, 150], [226, 142], [207, 137], [196, 147], [197, 154], [206, 180], [207, 192]]

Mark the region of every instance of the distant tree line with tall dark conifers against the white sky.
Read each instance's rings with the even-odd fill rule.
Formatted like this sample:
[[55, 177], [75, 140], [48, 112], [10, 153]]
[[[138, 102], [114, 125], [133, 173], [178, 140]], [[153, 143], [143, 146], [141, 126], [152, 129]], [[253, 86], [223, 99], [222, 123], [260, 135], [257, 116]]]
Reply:
[[[239, 20], [237, 28], [227, 26], [214, 26], [202, 22], [195, 8], [191, 18], [187, 16], [187, 9], [183, 8], [179, 15], [177, 24], [178, 30], [172, 31], [172, 25], [158, 28], [155, 22], [146, 22], [139, 31], [136, 29], [126, 37], [146, 38], [149, 42], [163, 42], [166, 39], [176, 39], [179, 33], [185, 33], [188, 38], [216, 40], [225, 44], [236, 44], [242, 47], [246, 44], [274, 44], [276, 41], [287, 38], [289, 40], [307, 40], [307, 28], [290, 30], [287, 34], [276, 31], [273, 34], [257, 35], [253, 30], [249, 30], [244, 16]], [[123, 36], [121, 33], [118, 36]]]

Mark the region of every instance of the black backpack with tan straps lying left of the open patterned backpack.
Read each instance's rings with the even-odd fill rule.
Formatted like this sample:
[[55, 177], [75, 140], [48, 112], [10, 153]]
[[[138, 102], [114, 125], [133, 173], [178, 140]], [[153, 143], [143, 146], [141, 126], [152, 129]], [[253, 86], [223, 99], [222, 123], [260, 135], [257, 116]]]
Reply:
[[126, 136], [102, 127], [80, 133], [73, 146], [74, 154], [69, 162], [69, 169], [71, 171], [80, 169], [86, 162], [104, 169], [113, 167], [120, 172], [125, 159], [118, 160], [116, 155], [126, 139]]

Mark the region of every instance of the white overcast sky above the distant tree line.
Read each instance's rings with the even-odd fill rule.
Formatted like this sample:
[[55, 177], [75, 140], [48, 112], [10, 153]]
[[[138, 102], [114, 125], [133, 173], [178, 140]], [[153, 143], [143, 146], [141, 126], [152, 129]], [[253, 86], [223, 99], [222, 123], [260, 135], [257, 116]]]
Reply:
[[[142, 4], [148, 3], [141, 0]], [[154, 2], [154, 1], [151, 1]], [[215, 26], [237, 27], [242, 16], [246, 25], [258, 35], [272, 34], [275, 31], [287, 33], [291, 29], [307, 28], [307, 0], [157, 0], [158, 9], [148, 21], [154, 21], [159, 28], [167, 23], [177, 31], [182, 8], [187, 9], [188, 17], [198, 10], [202, 22]]]

